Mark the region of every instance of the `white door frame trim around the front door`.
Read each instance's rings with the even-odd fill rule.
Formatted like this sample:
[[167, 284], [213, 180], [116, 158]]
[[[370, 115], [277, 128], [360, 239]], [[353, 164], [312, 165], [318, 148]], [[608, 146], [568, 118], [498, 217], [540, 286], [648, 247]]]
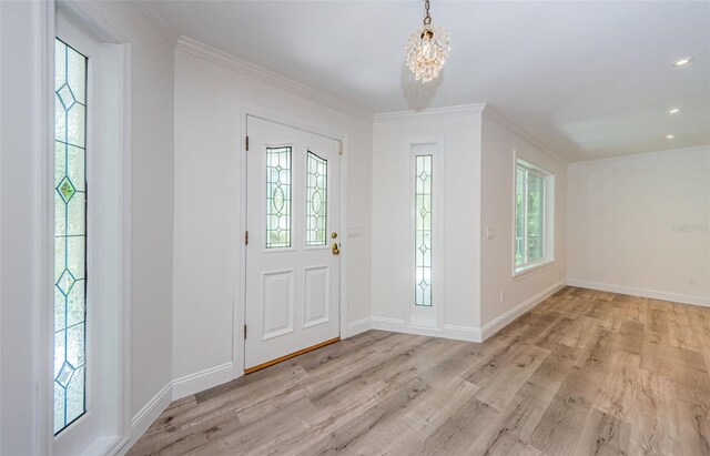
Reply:
[[338, 295], [338, 314], [339, 314], [339, 336], [342, 338], [346, 337], [347, 331], [347, 318], [349, 302], [348, 302], [348, 236], [347, 236], [347, 215], [348, 215], [348, 182], [347, 182], [347, 170], [348, 170], [348, 138], [347, 134], [338, 131], [333, 131], [327, 128], [323, 128], [321, 125], [304, 122], [302, 120], [297, 120], [291, 115], [283, 115], [277, 113], [276, 111], [272, 111], [268, 109], [263, 109], [256, 105], [245, 105], [242, 108], [241, 112], [241, 125], [240, 125], [240, 135], [237, 138], [237, 150], [239, 150], [239, 159], [235, 160], [235, 173], [239, 176], [235, 180], [233, 192], [236, 195], [236, 204], [234, 204], [234, 209], [232, 211], [233, 220], [234, 220], [234, 264], [235, 264], [235, 276], [234, 276], [234, 291], [233, 291], [233, 322], [232, 322], [232, 365], [233, 365], [233, 377], [239, 378], [244, 375], [245, 368], [245, 349], [246, 344], [244, 343], [244, 322], [246, 316], [246, 249], [244, 244], [244, 233], [246, 232], [246, 209], [247, 209], [247, 194], [246, 194], [246, 159], [248, 152], [246, 151], [246, 142], [245, 138], [247, 134], [246, 130], [246, 119], [247, 116], [258, 118], [268, 122], [282, 124], [284, 126], [288, 126], [296, 130], [303, 130], [308, 133], [317, 134], [321, 136], [325, 136], [335, 141], [339, 141], [341, 143], [341, 200], [338, 204], [341, 205], [341, 220], [339, 220], [339, 232], [341, 232], [341, 272], [339, 272], [339, 282], [341, 282], [341, 291]]

